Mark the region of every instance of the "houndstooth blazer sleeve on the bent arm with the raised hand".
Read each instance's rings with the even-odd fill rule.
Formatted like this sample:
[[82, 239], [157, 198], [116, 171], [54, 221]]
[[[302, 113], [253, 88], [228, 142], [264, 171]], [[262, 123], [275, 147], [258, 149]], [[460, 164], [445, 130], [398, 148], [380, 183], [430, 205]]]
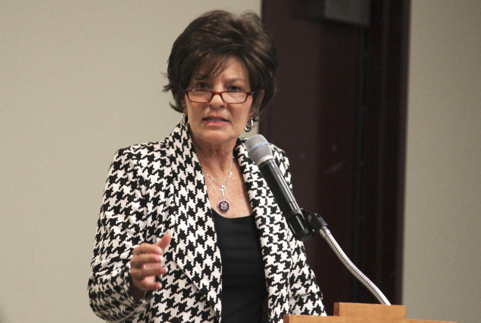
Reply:
[[130, 295], [130, 259], [147, 214], [146, 183], [134, 157], [126, 149], [115, 154], [97, 222], [88, 291], [94, 312], [109, 321], [128, 319], [147, 302]]

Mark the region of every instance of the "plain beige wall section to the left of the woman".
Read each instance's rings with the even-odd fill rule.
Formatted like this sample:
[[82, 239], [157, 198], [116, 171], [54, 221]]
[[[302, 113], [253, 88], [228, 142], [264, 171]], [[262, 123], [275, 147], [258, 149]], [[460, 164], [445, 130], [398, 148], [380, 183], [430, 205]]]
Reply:
[[180, 120], [176, 36], [260, 0], [0, 1], [0, 322], [97, 322], [87, 279], [107, 170]]

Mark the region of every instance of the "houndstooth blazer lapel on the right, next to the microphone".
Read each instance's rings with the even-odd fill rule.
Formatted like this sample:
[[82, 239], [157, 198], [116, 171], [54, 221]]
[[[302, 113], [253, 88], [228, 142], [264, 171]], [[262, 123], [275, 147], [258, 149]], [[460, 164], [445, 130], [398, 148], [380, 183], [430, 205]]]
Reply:
[[249, 158], [243, 140], [237, 140], [236, 158], [253, 208], [264, 260], [270, 310], [287, 313], [288, 273], [291, 266], [286, 223], [259, 167]]

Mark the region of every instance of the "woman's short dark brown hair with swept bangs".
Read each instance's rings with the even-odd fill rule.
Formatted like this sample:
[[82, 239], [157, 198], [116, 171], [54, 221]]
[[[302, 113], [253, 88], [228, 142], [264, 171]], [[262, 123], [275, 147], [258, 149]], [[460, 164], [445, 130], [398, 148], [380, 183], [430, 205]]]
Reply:
[[[170, 52], [164, 92], [172, 91], [175, 104], [182, 112], [182, 97], [192, 73], [205, 64], [203, 77], [223, 68], [228, 58], [244, 63], [249, 72], [253, 94], [254, 116], [258, 116], [276, 93], [277, 51], [261, 19], [254, 12], [240, 16], [214, 10], [193, 20], [175, 40]], [[261, 94], [264, 97], [261, 100]]]

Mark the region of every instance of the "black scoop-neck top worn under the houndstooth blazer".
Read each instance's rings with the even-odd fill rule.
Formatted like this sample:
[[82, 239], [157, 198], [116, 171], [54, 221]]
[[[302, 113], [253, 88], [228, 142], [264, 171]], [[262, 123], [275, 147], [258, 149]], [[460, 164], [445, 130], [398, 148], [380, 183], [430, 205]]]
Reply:
[[222, 323], [263, 322], [267, 290], [254, 215], [226, 218], [212, 209], [222, 261]]

